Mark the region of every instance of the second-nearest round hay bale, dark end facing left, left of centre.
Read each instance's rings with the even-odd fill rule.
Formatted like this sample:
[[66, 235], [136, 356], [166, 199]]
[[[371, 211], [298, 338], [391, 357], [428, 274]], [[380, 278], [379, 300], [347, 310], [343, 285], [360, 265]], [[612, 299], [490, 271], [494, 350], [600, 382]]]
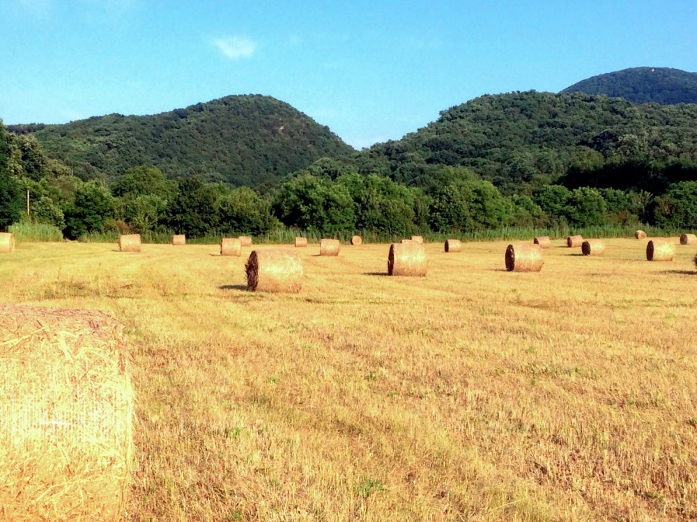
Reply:
[[245, 264], [247, 290], [300, 292], [302, 261], [293, 250], [254, 250]]

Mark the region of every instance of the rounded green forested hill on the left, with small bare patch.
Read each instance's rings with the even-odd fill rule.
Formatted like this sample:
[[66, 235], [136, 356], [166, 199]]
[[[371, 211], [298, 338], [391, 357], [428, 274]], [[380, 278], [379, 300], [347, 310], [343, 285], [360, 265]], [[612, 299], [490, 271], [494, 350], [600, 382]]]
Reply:
[[256, 187], [339, 157], [351, 146], [289, 104], [261, 95], [228, 96], [154, 116], [93, 117], [65, 125], [12, 125], [33, 132], [47, 155], [83, 179], [112, 180], [128, 168], [159, 167], [167, 176], [200, 174]]

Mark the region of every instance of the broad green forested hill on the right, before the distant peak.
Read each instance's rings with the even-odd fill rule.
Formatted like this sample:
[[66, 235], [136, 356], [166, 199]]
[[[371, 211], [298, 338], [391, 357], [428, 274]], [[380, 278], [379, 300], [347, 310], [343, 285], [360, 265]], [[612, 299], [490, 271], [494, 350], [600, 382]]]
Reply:
[[667, 177], [694, 177], [696, 121], [697, 104], [638, 105], [584, 93], [485, 95], [441, 111], [399, 141], [360, 152], [358, 168], [426, 188], [466, 167], [509, 194], [554, 182], [660, 191]]

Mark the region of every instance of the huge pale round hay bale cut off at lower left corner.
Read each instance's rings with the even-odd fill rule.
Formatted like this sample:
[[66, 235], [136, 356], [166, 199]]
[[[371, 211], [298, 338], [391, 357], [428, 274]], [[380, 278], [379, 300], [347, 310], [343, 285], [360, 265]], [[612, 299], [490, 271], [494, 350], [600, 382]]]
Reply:
[[0, 519], [120, 519], [133, 399], [123, 326], [0, 305]]

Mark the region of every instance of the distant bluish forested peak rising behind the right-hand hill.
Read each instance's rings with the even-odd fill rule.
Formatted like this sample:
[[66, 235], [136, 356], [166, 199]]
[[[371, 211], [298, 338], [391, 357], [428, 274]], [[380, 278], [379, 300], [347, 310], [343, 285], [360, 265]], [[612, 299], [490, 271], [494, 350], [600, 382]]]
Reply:
[[636, 67], [599, 74], [562, 90], [623, 97], [634, 103], [697, 103], [697, 72]]

